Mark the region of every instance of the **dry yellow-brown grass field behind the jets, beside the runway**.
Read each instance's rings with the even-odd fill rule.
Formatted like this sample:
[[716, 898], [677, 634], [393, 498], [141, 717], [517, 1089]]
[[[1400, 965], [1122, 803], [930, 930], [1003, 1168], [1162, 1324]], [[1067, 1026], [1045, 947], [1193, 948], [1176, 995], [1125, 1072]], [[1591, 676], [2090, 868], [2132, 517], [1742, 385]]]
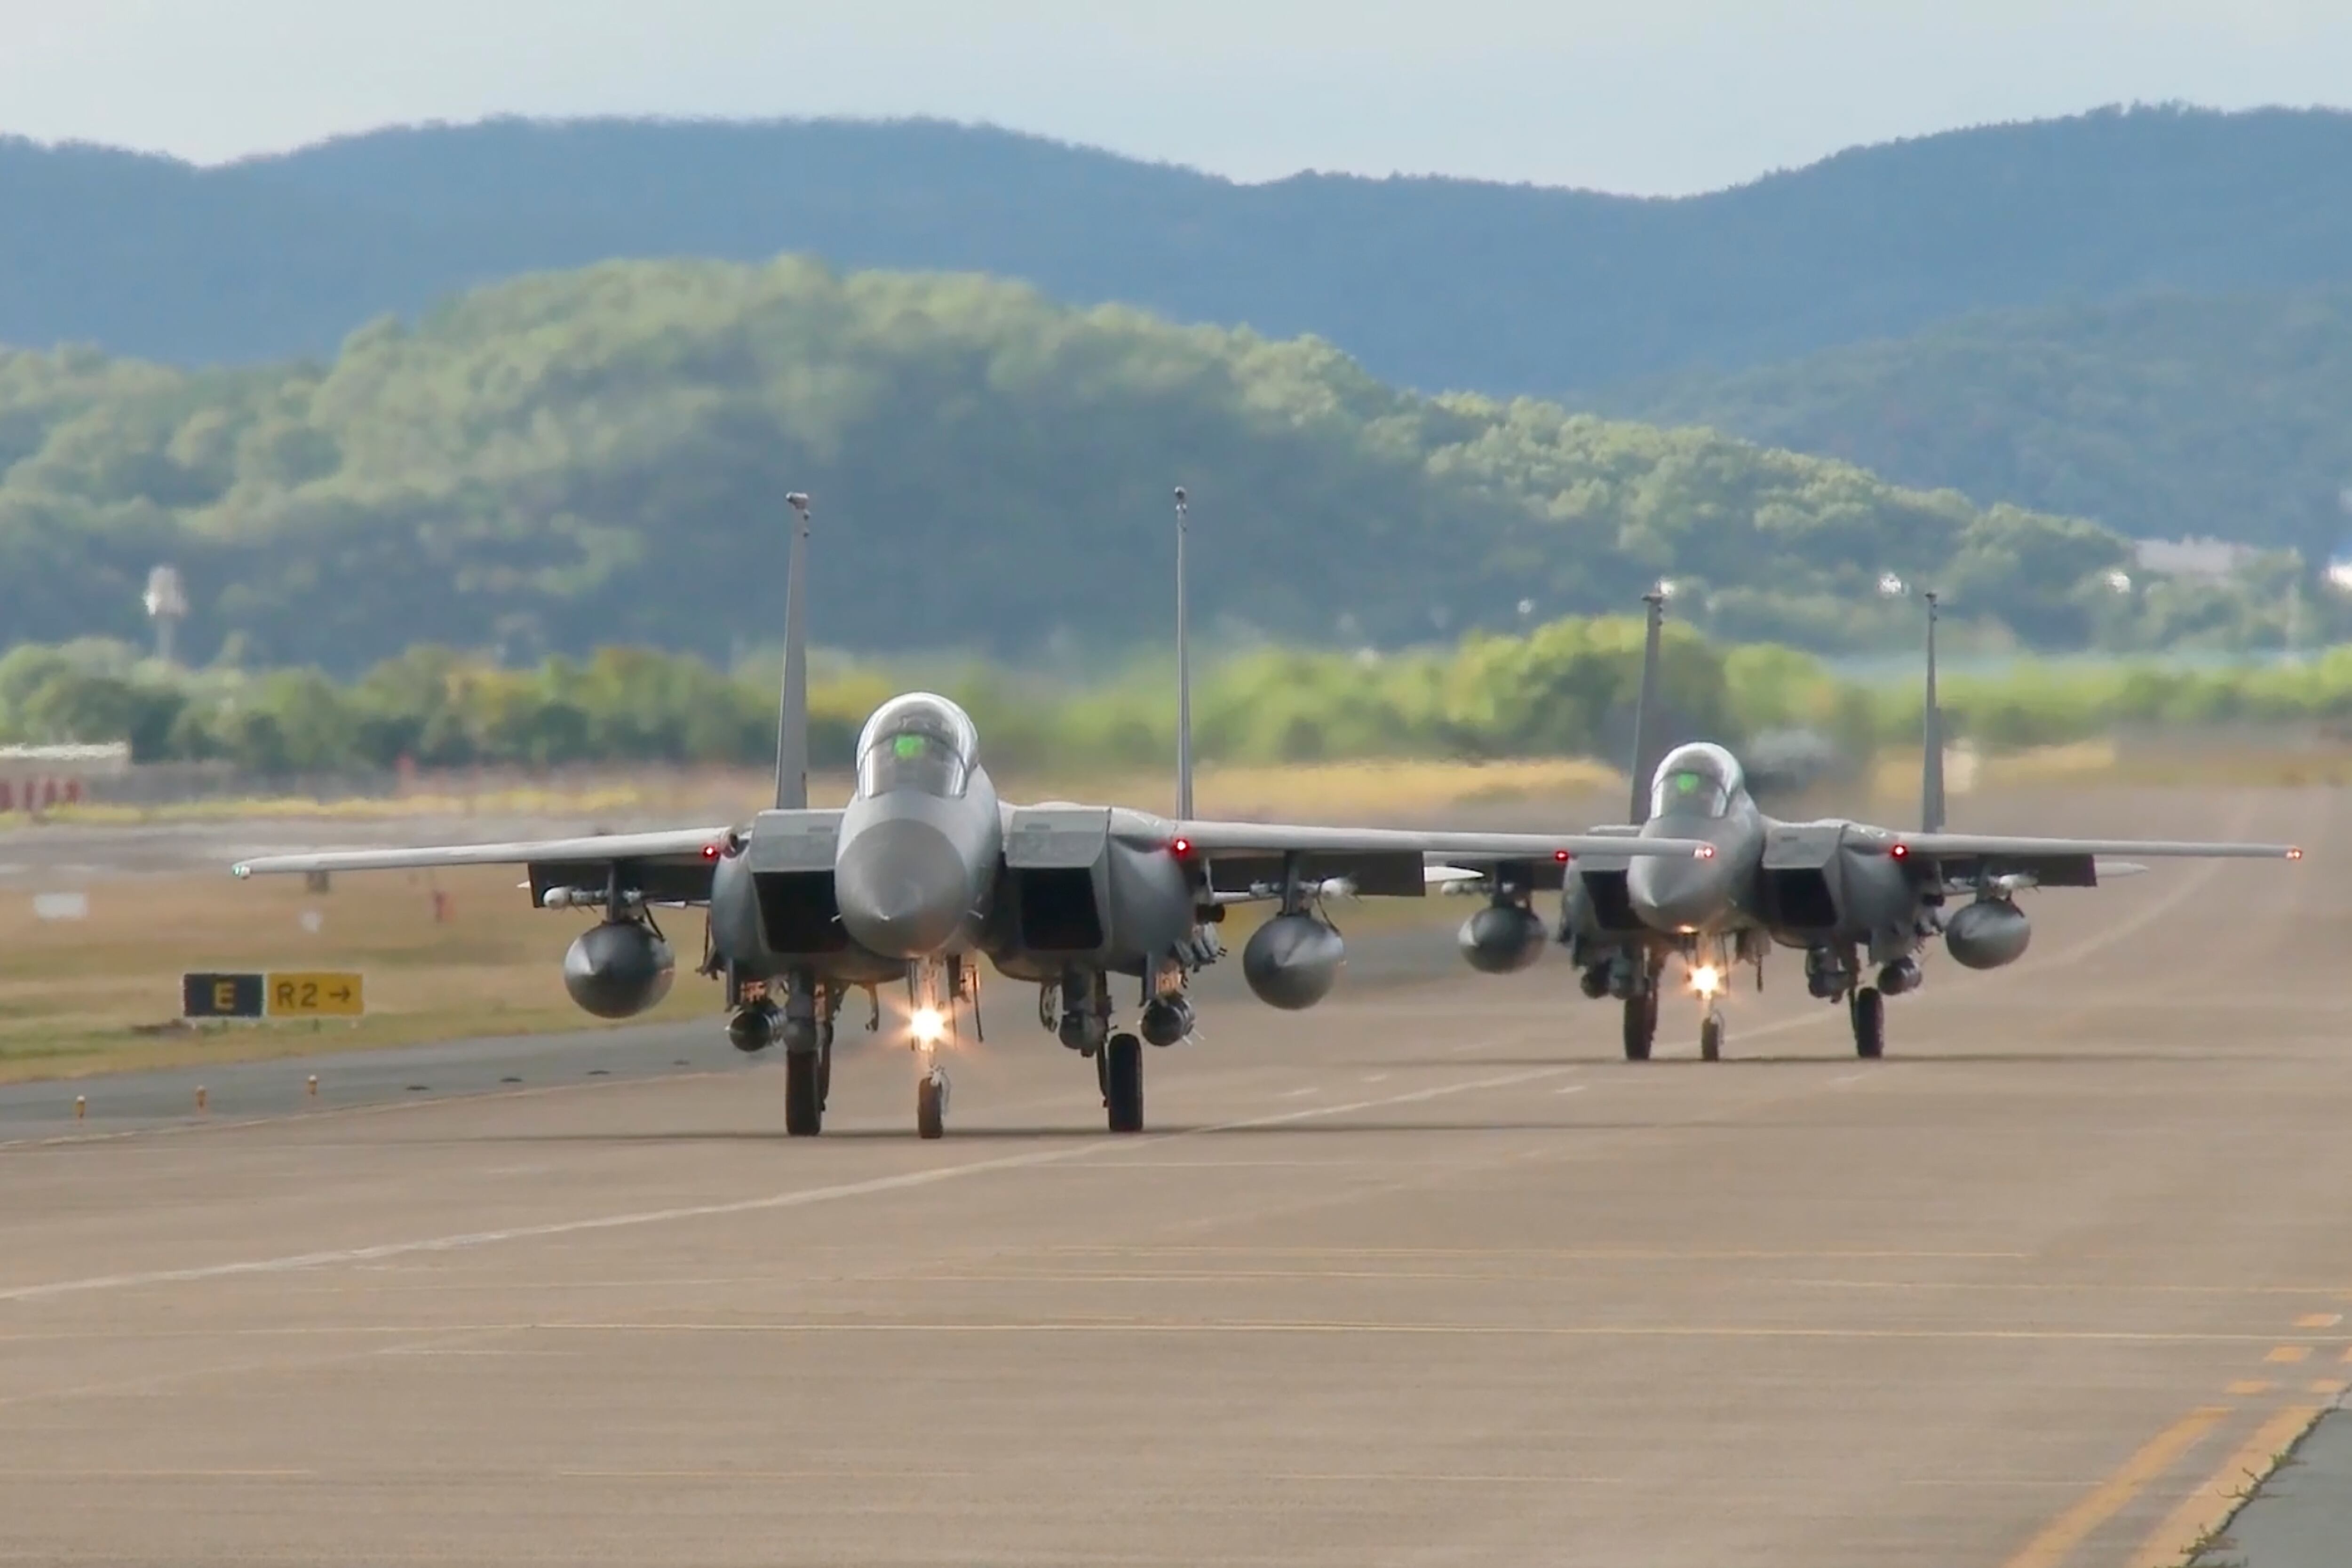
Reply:
[[[1790, 802], [1788, 811], [1867, 811], [1882, 820], [1907, 820], [1917, 766], [1915, 755], [1889, 752], [1851, 797]], [[1973, 818], [2018, 792], [2049, 790], [2328, 783], [2326, 766], [2333, 764], [2324, 757], [2204, 755], [2166, 769], [2164, 759], [2119, 757], [2114, 748], [2053, 748], [1985, 759], [1973, 769], [1969, 790], [1978, 802], [1955, 802], [1955, 811]], [[757, 809], [764, 788], [767, 780], [748, 771], [637, 783], [590, 778], [562, 788], [499, 783], [480, 795], [442, 790], [336, 806], [247, 802], [242, 813], [233, 804], [181, 813], [85, 806], [59, 813], [54, 827], [0, 827], [0, 863], [16, 867], [16, 875], [0, 877], [0, 1081], [595, 1027], [569, 1004], [560, 980], [562, 952], [590, 917], [534, 910], [515, 886], [520, 872], [336, 877], [332, 891], [308, 893], [299, 877], [233, 882], [228, 851], [216, 849], [214, 837], [223, 823], [240, 820], [266, 823], [273, 842], [285, 846], [358, 837], [393, 842], [407, 837], [412, 818], [414, 832], [428, 839], [503, 837], [517, 832], [517, 820], [543, 823], [522, 832], [734, 820]], [[1169, 804], [1169, 780], [1157, 773], [1007, 778], [1004, 790], [1016, 799]], [[814, 795], [837, 802], [847, 780], [816, 780]], [[1209, 769], [1200, 780], [1200, 811], [1235, 818], [1583, 825], [1623, 811], [1623, 776], [1564, 759]], [[473, 830], [475, 818], [480, 830]], [[42, 870], [38, 853], [26, 856], [45, 837], [75, 832], [80, 842], [68, 858], [103, 860], [103, 844], [118, 830], [122, 844], [139, 844], [125, 849], [120, 863]], [[183, 839], [176, 860], [141, 863], [141, 856], [155, 853], [151, 839], [158, 832]], [[212, 858], [219, 858], [219, 870], [209, 867]], [[40, 891], [85, 891], [89, 912], [85, 919], [38, 919], [33, 893]], [[435, 893], [442, 893], [440, 919]], [[1435, 929], [1461, 912], [1461, 900], [1451, 898], [1367, 903], [1345, 912], [1343, 929]], [[1251, 912], [1235, 912], [1225, 929], [1228, 947], [1240, 947], [1251, 922]], [[710, 1018], [717, 1027], [717, 985], [691, 973], [703, 940], [701, 912], [670, 912], [666, 929], [680, 957], [680, 978], [649, 1018]], [[268, 1023], [202, 1032], [174, 1025], [183, 971], [256, 969], [358, 969], [367, 976], [369, 1016], [355, 1025]]]

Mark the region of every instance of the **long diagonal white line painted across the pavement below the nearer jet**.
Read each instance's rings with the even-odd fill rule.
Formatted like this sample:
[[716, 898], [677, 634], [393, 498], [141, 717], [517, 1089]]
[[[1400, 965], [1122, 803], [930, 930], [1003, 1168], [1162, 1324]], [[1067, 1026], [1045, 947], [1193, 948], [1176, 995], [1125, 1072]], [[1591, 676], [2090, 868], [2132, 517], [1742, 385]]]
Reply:
[[501, 1241], [536, 1241], [543, 1237], [576, 1237], [597, 1229], [630, 1229], [640, 1225], [670, 1225], [677, 1220], [717, 1220], [739, 1213], [762, 1213], [771, 1208], [809, 1208], [814, 1204], [835, 1204], [842, 1199], [877, 1197], [884, 1192], [906, 1192], [910, 1187], [931, 1187], [936, 1182], [955, 1180], [962, 1175], [985, 1175], [990, 1171], [1028, 1171], [1035, 1166], [1051, 1166], [1073, 1159], [1089, 1159], [1096, 1154], [1115, 1154], [1120, 1150], [1138, 1150], [1160, 1143], [1174, 1143], [1178, 1138], [1197, 1138], [1202, 1133], [1242, 1133], [1254, 1128], [1282, 1126], [1287, 1121], [1308, 1121], [1312, 1117], [1345, 1117], [1359, 1110], [1385, 1110], [1392, 1105], [1416, 1105], [1423, 1100], [1442, 1100], [1458, 1093], [1477, 1093], [1482, 1088], [1512, 1088], [1515, 1084], [1531, 1084], [1536, 1079], [1559, 1077], [1566, 1067], [1538, 1067], [1534, 1072], [1508, 1072], [1501, 1077], [1468, 1079], [1463, 1084], [1439, 1084], [1437, 1088], [1416, 1088], [1411, 1093], [1385, 1095], [1378, 1100], [1350, 1100], [1345, 1105], [1310, 1105], [1305, 1110], [1287, 1110], [1270, 1117], [1244, 1117], [1242, 1121], [1218, 1121], [1214, 1126], [1185, 1128], [1178, 1133], [1157, 1133], [1143, 1138], [1122, 1138], [1105, 1143], [1089, 1143], [1077, 1147], [1056, 1150], [1033, 1150], [1028, 1154], [1004, 1154], [1000, 1159], [974, 1159], [960, 1166], [934, 1166], [929, 1171], [906, 1171], [901, 1175], [877, 1175], [863, 1182], [840, 1182], [835, 1187], [802, 1187], [797, 1192], [776, 1192], [760, 1199], [741, 1199], [734, 1204], [691, 1204], [682, 1208], [649, 1208], [640, 1213], [609, 1213], [588, 1220], [553, 1220], [546, 1225], [515, 1225], [510, 1229], [477, 1229], [456, 1237], [428, 1237], [419, 1241], [386, 1241], [381, 1246], [350, 1246], [322, 1253], [292, 1253], [285, 1258], [252, 1258], [245, 1262], [209, 1262], [188, 1269], [148, 1269], [136, 1274], [94, 1274], [87, 1279], [59, 1279], [42, 1286], [16, 1286], [0, 1291], [0, 1302], [28, 1302], [49, 1300], [56, 1295], [85, 1295], [92, 1291], [132, 1291], [141, 1286], [172, 1286], [193, 1284], [200, 1279], [235, 1279], [242, 1274], [292, 1274], [296, 1269], [325, 1269], [348, 1262], [376, 1262], [381, 1258], [409, 1258], [416, 1253], [461, 1253], [477, 1246], [499, 1246]]

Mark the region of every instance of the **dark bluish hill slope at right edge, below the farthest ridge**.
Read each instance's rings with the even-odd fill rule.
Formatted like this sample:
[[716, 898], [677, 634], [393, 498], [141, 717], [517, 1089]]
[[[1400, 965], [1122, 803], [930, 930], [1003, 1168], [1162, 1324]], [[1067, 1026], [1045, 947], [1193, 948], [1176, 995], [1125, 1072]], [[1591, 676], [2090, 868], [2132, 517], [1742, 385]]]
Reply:
[[2352, 538], [2352, 284], [1985, 313], [1597, 402], [2136, 538]]

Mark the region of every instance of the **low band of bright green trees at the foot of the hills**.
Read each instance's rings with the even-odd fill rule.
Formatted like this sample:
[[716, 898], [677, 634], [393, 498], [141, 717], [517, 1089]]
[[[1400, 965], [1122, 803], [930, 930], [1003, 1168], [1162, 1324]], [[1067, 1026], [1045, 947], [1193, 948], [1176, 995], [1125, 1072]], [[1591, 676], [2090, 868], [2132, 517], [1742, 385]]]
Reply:
[[[1223, 762], [1621, 762], [1639, 663], [1632, 618], [1566, 618], [1399, 656], [1261, 649], [1197, 679], [1197, 750]], [[1068, 684], [969, 661], [910, 670], [828, 658], [811, 682], [818, 766], [847, 766], [866, 715], [910, 686], [964, 703], [995, 766], [1164, 764], [1174, 755], [1171, 679], [1155, 661]], [[1672, 733], [1733, 745], [1813, 731], [1863, 755], [1919, 733], [1910, 679], [1842, 679], [1811, 654], [1708, 642], [1682, 625], [1668, 628], [1663, 696]], [[1945, 703], [1955, 733], [1994, 748], [2098, 736], [2119, 722], [2345, 719], [2352, 649], [2284, 668], [2020, 665], [1952, 677]], [[426, 646], [348, 682], [320, 670], [172, 670], [108, 642], [28, 644], [0, 658], [0, 741], [129, 741], [143, 762], [212, 759], [259, 776], [402, 762], [762, 764], [774, 757], [774, 715], [771, 668], [722, 670], [623, 646], [534, 668]]]

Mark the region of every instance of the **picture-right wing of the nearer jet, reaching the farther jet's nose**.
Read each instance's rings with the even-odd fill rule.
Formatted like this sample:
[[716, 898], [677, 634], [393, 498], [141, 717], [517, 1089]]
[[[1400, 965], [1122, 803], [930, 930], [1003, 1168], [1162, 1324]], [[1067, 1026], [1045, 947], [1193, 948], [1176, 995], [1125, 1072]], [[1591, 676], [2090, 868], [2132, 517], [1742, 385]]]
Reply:
[[1423, 832], [1416, 827], [1319, 827], [1298, 823], [1176, 823], [1176, 842], [1209, 865], [1214, 891], [1247, 891], [1282, 877], [1298, 856], [1303, 879], [1348, 879], [1376, 898], [1423, 898], [1430, 863], [1510, 865], [1524, 886], [1557, 889], [1576, 856], [1703, 858], [1700, 839], [1630, 839], [1595, 832]]

